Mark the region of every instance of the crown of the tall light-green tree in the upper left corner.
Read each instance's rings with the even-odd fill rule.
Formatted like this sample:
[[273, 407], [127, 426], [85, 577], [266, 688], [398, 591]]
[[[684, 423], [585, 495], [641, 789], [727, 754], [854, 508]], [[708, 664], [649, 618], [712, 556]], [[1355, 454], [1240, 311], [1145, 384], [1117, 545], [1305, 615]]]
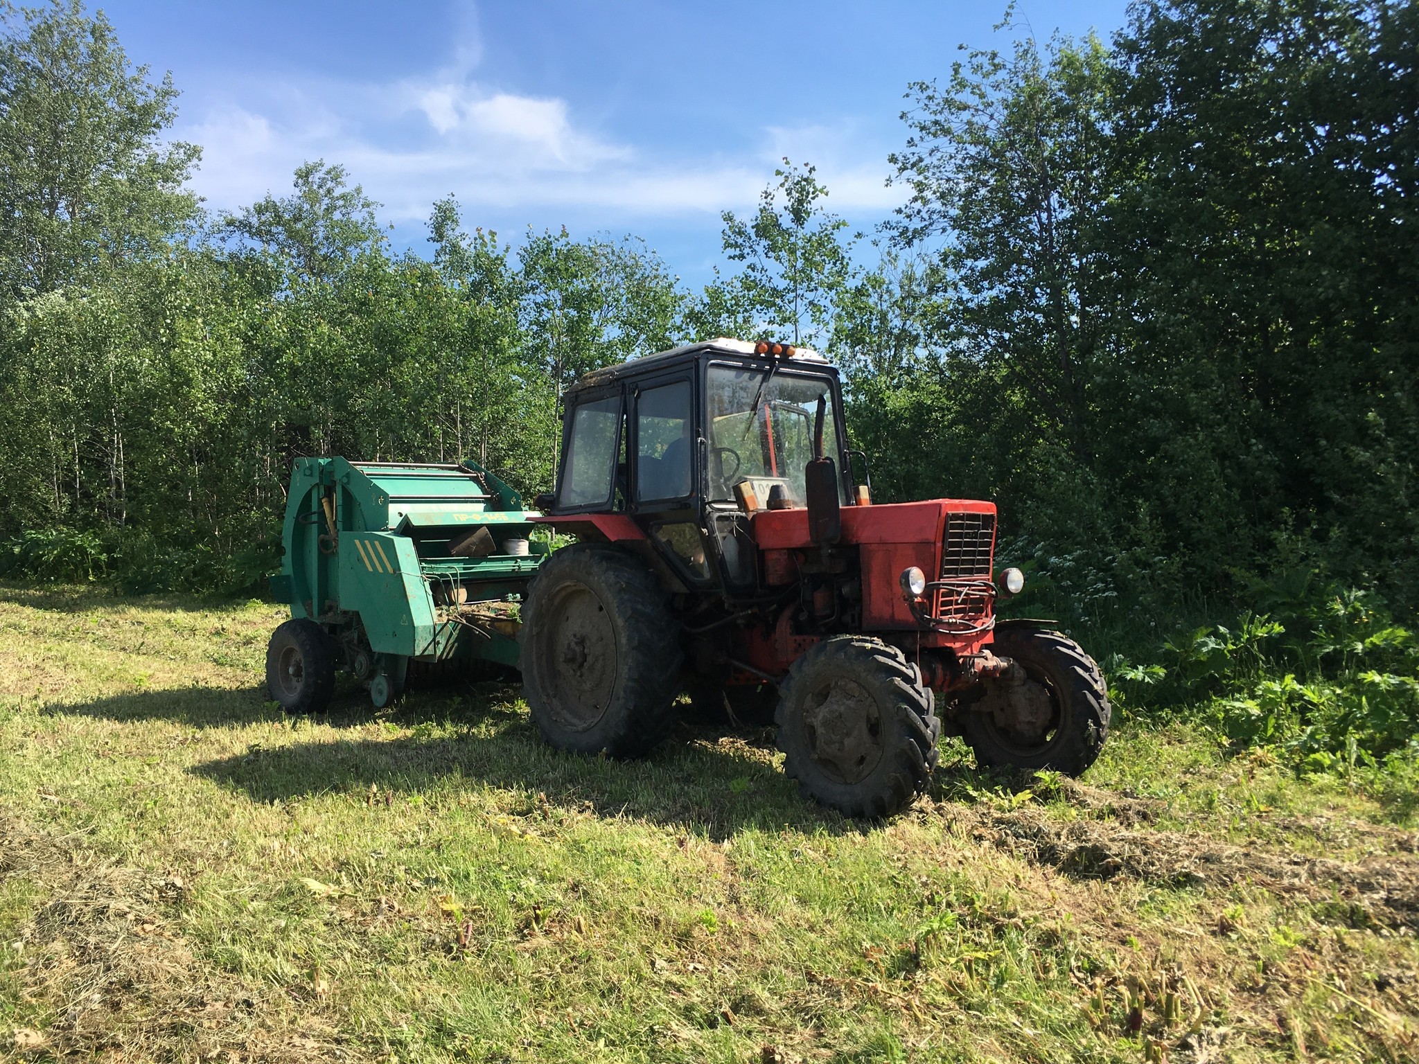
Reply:
[[170, 77], [133, 68], [81, 0], [0, 6], [0, 294], [91, 282], [197, 216], [183, 187], [200, 149], [163, 142]]

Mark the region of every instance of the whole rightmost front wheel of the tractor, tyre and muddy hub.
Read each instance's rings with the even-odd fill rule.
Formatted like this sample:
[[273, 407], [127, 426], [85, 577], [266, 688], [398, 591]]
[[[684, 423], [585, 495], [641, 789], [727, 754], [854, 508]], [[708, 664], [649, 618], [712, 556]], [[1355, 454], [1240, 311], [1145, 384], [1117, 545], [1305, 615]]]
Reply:
[[1108, 688], [1094, 658], [1046, 628], [1003, 628], [990, 650], [1020, 672], [982, 681], [985, 697], [962, 714], [976, 765], [1078, 776], [1108, 736]]

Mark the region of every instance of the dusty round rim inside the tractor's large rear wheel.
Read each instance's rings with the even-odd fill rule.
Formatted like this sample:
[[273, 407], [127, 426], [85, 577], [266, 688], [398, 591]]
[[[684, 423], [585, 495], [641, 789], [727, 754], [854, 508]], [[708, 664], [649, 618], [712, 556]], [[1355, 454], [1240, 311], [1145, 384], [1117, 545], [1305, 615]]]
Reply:
[[559, 725], [585, 732], [606, 715], [616, 687], [616, 630], [602, 600], [580, 583], [561, 587], [548, 616], [536, 645], [545, 701]]

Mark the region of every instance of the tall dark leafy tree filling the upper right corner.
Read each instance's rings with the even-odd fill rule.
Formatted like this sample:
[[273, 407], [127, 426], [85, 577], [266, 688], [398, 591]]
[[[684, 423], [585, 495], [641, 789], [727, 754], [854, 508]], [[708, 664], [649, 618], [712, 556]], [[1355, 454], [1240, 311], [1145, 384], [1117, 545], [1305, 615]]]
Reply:
[[1215, 572], [1294, 535], [1412, 596], [1419, 7], [1138, 4], [1115, 67], [1122, 487]]

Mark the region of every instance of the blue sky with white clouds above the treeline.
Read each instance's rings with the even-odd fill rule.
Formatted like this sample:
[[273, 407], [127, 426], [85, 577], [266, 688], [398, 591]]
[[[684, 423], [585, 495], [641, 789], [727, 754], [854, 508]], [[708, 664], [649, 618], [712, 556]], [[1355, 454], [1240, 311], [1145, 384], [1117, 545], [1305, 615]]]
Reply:
[[887, 153], [914, 79], [958, 44], [1108, 35], [1124, 0], [969, 3], [366, 3], [111, 0], [129, 57], [172, 71], [196, 189], [237, 207], [305, 159], [343, 163], [423, 250], [433, 200], [517, 241], [528, 224], [646, 237], [687, 282], [719, 261], [719, 211], [780, 156], [812, 162], [856, 227], [887, 217]]

